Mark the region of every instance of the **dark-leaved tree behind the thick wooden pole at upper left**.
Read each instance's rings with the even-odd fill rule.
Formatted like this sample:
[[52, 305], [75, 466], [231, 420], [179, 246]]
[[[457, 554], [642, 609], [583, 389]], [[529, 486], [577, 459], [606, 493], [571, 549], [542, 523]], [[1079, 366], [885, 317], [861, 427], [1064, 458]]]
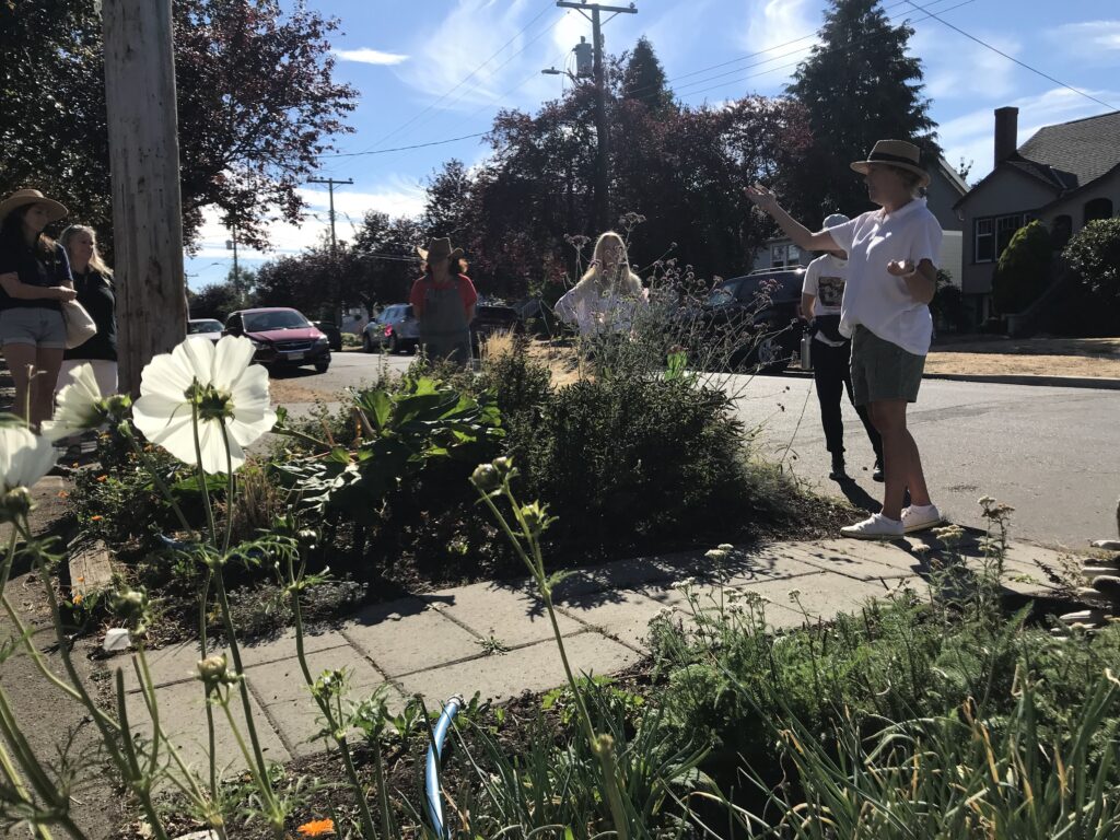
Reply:
[[[337, 21], [278, 0], [174, 0], [184, 236], [217, 207], [262, 246], [298, 221], [356, 92], [334, 81]], [[101, 19], [94, 0], [0, 2], [0, 192], [39, 187], [112, 240]]]

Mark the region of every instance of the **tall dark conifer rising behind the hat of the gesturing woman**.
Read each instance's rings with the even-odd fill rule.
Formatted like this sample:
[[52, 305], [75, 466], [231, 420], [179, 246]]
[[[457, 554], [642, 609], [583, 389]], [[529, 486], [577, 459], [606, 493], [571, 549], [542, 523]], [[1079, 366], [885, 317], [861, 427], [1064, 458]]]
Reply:
[[797, 67], [787, 92], [809, 110], [812, 149], [795, 196], [806, 222], [870, 207], [848, 162], [876, 140], [909, 140], [931, 160], [940, 155], [930, 101], [922, 95], [922, 62], [906, 55], [914, 30], [893, 26], [879, 0], [830, 0], [820, 44]]

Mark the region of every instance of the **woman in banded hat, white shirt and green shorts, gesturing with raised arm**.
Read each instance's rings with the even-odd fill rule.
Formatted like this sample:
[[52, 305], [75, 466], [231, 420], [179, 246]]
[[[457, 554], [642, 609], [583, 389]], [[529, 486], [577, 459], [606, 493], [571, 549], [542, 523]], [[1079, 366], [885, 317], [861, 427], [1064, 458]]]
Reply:
[[[930, 498], [922, 458], [906, 428], [906, 407], [917, 400], [933, 337], [928, 304], [937, 284], [941, 225], [921, 197], [930, 176], [913, 143], [879, 140], [851, 168], [864, 176], [868, 198], [879, 209], [818, 233], [794, 221], [765, 187], [748, 187], [747, 197], [773, 216], [799, 248], [848, 253], [840, 333], [852, 339], [855, 402], [867, 405], [883, 437], [885, 480], [881, 513], [840, 532], [862, 540], [890, 540], [943, 521]], [[907, 489], [911, 504], [904, 510]]]

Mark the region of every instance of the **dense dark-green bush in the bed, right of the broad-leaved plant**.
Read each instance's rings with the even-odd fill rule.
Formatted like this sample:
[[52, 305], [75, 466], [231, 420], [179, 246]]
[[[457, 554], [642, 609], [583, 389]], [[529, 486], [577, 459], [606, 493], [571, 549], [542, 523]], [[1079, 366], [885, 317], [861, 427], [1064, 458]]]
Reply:
[[557, 539], [633, 547], [749, 516], [744, 430], [722, 391], [684, 380], [581, 380], [513, 423], [506, 451]]

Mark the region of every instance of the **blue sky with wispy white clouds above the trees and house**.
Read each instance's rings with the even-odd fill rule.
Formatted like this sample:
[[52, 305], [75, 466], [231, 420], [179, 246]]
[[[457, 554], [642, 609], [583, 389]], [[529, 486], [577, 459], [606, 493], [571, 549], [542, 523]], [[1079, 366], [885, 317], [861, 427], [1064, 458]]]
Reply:
[[[288, 4], [288, 0], [283, 0]], [[1042, 125], [1120, 108], [1120, 9], [1116, 0], [916, 0], [970, 35], [1046, 73], [1086, 99], [969, 40], [908, 2], [884, 0], [894, 20], [909, 19], [911, 52], [925, 68], [931, 112], [946, 159], [973, 160], [974, 180], [991, 168], [992, 110], [1019, 108], [1019, 141]], [[534, 111], [560, 94], [561, 76], [540, 69], [571, 62], [590, 24], [553, 0], [307, 0], [340, 19], [334, 39], [337, 76], [361, 94], [356, 129], [339, 151], [365, 152], [486, 131], [501, 108]], [[626, 3], [612, 3], [626, 4]], [[749, 93], [774, 95], [790, 81], [820, 28], [823, 0], [635, 0], [637, 15], [604, 28], [618, 53], [645, 35], [670, 86], [688, 104]], [[785, 46], [782, 46], [785, 45]], [[758, 55], [762, 50], [768, 50]], [[749, 56], [749, 57], [748, 57]], [[487, 60], [489, 59], [489, 60]], [[725, 64], [730, 63], [730, 64]], [[707, 69], [713, 65], [724, 65]], [[570, 84], [570, 83], [564, 83]], [[1120, 139], [1118, 139], [1120, 142]], [[479, 139], [409, 151], [334, 158], [318, 177], [353, 178], [335, 190], [338, 235], [367, 209], [418, 213], [423, 183], [444, 160], [485, 158]], [[308, 185], [301, 225], [273, 227], [276, 250], [240, 254], [246, 268], [314, 243], [327, 227], [326, 187]], [[221, 281], [232, 264], [227, 234], [211, 214], [198, 251], [187, 259], [188, 283]]]

